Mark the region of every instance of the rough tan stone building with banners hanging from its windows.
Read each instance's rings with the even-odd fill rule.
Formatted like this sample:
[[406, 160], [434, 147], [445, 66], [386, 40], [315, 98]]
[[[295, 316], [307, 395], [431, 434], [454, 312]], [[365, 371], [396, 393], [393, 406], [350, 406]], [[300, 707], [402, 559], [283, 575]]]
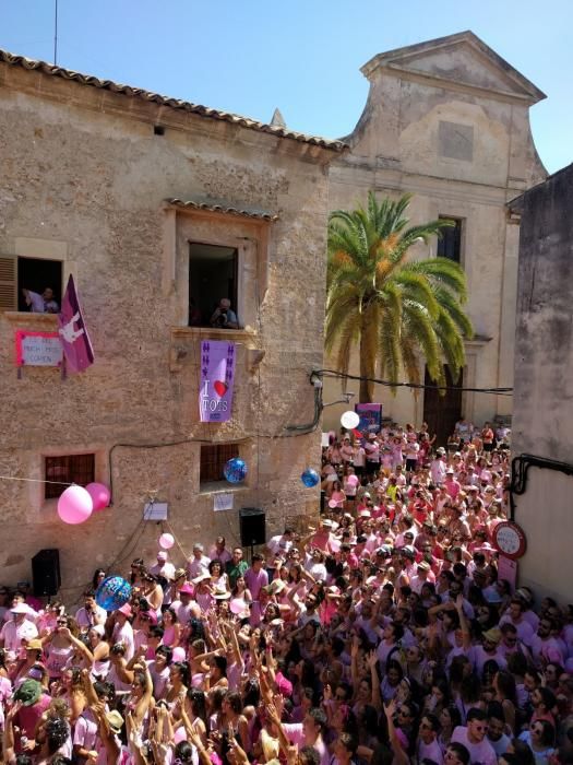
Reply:
[[[186, 551], [217, 534], [237, 544], [242, 507], [265, 510], [267, 533], [318, 511], [299, 476], [320, 455], [309, 373], [322, 365], [329, 165], [343, 150], [0, 54], [0, 474], [24, 479], [1, 482], [2, 581], [28, 578], [40, 549], [59, 549], [65, 598], [96, 566], [153, 560], [150, 499], [168, 504]], [[95, 364], [19, 378], [15, 331], [56, 329], [23, 310], [21, 290], [60, 301], [70, 273]], [[240, 329], [212, 330], [205, 311], [226, 295]], [[200, 423], [200, 341], [223, 338], [237, 344], [232, 417]], [[232, 454], [243, 486], [219, 480]], [[112, 506], [80, 526], [41, 483], [71, 470], [112, 486]], [[214, 511], [222, 492], [232, 509]]]

